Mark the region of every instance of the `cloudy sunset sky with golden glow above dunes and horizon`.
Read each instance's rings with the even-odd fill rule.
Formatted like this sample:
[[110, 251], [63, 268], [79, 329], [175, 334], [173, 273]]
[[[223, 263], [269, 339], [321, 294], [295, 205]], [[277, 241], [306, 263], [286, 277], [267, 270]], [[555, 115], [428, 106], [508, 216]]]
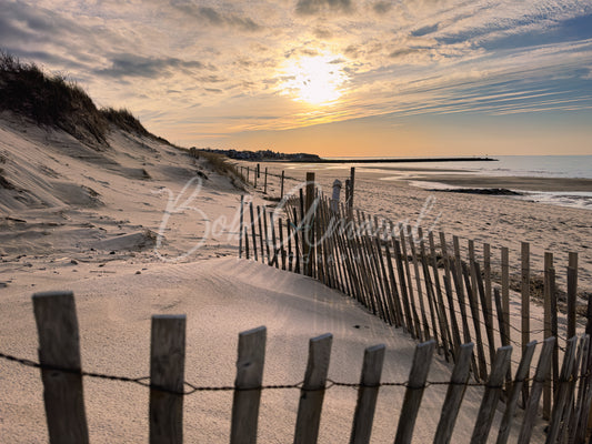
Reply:
[[183, 147], [592, 154], [592, 1], [0, 0], [0, 49]]

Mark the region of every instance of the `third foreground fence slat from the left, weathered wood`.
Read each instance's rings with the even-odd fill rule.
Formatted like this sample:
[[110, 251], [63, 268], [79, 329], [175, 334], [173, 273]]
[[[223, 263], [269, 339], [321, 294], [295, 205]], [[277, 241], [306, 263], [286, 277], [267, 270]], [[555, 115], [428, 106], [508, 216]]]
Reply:
[[267, 329], [260, 326], [239, 334], [237, 380], [232, 402], [231, 444], [254, 444], [263, 364], [265, 359]]

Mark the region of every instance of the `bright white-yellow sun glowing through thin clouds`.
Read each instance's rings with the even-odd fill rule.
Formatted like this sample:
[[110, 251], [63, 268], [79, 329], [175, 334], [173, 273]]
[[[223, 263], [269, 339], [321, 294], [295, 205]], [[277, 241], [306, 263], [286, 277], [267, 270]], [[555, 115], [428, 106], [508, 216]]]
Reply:
[[291, 59], [283, 69], [282, 93], [312, 105], [332, 104], [348, 81], [343, 63], [341, 57], [329, 53]]

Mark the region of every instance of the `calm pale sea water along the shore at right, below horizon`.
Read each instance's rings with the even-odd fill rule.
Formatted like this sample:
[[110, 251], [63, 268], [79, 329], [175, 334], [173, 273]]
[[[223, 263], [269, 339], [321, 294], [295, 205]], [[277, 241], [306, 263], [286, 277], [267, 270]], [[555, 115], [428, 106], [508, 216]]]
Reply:
[[[592, 179], [592, 155], [500, 155], [494, 159], [498, 161], [373, 163], [359, 164], [359, 168], [397, 165], [405, 169], [460, 170], [466, 174], [479, 175]], [[412, 184], [434, 188], [433, 182], [412, 182]], [[440, 184], [439, 188], [453, 186]], [[526, 192], [516, 199], [592, 210], [592, 189], [580, 192]]]

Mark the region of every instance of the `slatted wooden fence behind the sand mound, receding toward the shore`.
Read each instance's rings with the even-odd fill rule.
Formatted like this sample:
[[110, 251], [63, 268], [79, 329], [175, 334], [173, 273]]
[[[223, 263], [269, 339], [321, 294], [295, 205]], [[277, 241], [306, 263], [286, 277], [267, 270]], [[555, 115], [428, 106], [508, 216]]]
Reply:
[[[483, 244], [480, 261], [471, 240], [463, 251], [458, 236], [452, 236], [450, 244], [442, 232], [437, 238], [421, 226], [394, 224], [354, 211], [319, 193], [313, 173], [307, 174], [305, 188], [300, 188], [298, 195], [284, 195], [278, 205], [254, 206], [241, 201], [240, 232], [239, 256], [318, 279], [419, 341], [433, 340], [448, 361], [456, 362], [461, 344], [474, 342], [471, 369], [476, 381], [490, 377], [499, 346], [513, 344], [524, 357], [532, 339], [556, 337], [551, 377], [543, 390], [543, 417], [551, 418], [560, 386], [560, 361], [569, 339], [578, 332], [576, 253], [569, 254], [566, 268], [566, 327], [559, 327], [555, 268], [553, 254], [546, 252], [544, 320], [542, 327], [533, 329], [533, 276], [526, 242], [521, 244], [521, 307], [516, 326], [511, 322], [508, 248], [501, 248], [499, 269], [494, 270], [490, 244]], [[588, 301], [585, 332], [592, 334], [592, 299]], [[590, 373], [592, 354], [586, 352], [584, 361], [581, 375]], [[525, 375], [533, 371], [526, 369]], [[531, 390], [526, 382], [524, 402]]]

